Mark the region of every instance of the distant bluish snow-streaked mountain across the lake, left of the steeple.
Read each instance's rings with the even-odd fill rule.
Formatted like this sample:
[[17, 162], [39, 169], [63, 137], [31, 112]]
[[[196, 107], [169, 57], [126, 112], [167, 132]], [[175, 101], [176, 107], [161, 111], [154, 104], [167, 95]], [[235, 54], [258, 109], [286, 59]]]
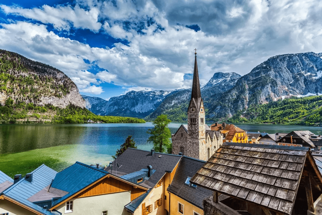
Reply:
[[109, 101], [97, 97], [82, 96], [86, 108], [102, 116], [146, 117], [153, 112], [172, 91], [130, 91], [125, 95], [112, 97]]

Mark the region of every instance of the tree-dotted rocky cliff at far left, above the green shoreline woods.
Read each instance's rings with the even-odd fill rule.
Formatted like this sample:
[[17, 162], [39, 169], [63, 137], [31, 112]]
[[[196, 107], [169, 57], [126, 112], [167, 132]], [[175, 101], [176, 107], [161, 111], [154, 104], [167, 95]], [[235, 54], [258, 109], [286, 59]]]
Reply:
[[1, 105], [10, 97], [35, 105], [85, 107], [75, 83], [62, 71], [17, 53], [0, 50], [0, 77]]

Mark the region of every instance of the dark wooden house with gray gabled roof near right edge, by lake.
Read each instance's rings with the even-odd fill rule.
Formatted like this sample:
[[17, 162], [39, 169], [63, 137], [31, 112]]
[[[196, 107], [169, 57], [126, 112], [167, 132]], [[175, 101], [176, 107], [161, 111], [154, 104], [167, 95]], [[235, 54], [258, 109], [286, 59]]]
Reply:
[[316, 145], [311, 141], [311, 136], [316, 136], [310, 131], [292, 131], [278, 140], [277, 145], [306, 146], [311, 149]]

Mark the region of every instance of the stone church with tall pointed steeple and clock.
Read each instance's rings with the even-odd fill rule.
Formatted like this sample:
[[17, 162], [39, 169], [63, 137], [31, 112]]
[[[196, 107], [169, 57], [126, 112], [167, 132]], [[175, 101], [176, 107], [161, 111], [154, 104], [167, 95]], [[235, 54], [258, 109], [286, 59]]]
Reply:
[[188, 124], [181, 125], [176, 133], [172, 135], [172, 154], [182, 153], [182, 155], [206, 161], [223, 144], [223, 135], [220, 131], [212, 131], [205, 123], [205, 109], [200, 92], [197, 53], [195, 52], [194, 54], [194, 77], [191, 99], [187, 110]]

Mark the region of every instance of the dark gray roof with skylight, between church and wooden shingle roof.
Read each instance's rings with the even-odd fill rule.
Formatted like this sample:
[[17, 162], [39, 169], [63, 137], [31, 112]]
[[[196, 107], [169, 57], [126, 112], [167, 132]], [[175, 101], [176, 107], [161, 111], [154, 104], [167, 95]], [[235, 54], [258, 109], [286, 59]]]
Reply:
[[205, 161], [183, 156], [175, 172], [175, 177], [167, 190], [203, 209], [203, 200], [211, 197], [213, 192], [200, 186], [193, 188], [185, 184], [185, 180], [187, 177], [192, 178], [205, 163]]

